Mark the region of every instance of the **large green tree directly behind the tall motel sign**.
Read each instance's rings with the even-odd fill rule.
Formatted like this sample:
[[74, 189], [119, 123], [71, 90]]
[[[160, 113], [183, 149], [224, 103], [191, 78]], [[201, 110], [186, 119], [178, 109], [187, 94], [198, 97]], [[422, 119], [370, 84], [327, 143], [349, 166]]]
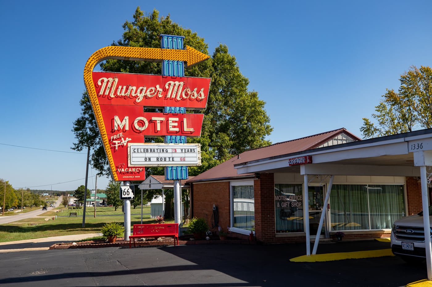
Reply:
[[[171, 34], [184, 36], [184, 45], [208, 54], [208, 45], [203, 38], [172, 22], [169, 15], [159, 17], [156, 9], [145, 15], [140, 7], [137, 7], [133, 21], [124, 22], [123, 28], [122, 38], [111, 45], [159, 48], [159, 35]], [[101, 69], [106, 72], [160, 75], [161, 63], [108, 59], [102, 62]], [[265, 139], [273, 130], [270, 118], [264, 110], [265, 102], [259, 100], [256, 91], [248, 91], [249, 80], [241, 74], [235, 57], [229, 54], [226, 45], [216, 47], [211, 59], [185, 69], [185, 76], [212, 78], [201, 137], [188, 139], [189, 143], [201, 144], [202, 157], [201, 166], [189, 168], [190, 175], [200, 174], [245, 150], [271, 143]], [[99, 172], [106, 174], [108, 162], [102, 143], [95, 140], [95, 137], [90, 137], [95, 135], [99, 138], [99, 133], [86, 93], [83, 94], [80, 104], [83, 107], [82, 117], [85, 116], [83, 120], [80, 118], [74, 123], [73, 130], [77, 139], [90, 138], [88, 143], [92, 149], [100, 150], [97, 162], [92, 164]], [[83, 135], [80, 134], [82, 130]], [[151, 140], [162, 142], [161, 138]], [[87, 144], [86, 140], [83, 142]], [[75, 146], [74, 149], [78, 150], [80, 147]], [[146, 173], [162, 175], [163, 168], [146, 168]]]

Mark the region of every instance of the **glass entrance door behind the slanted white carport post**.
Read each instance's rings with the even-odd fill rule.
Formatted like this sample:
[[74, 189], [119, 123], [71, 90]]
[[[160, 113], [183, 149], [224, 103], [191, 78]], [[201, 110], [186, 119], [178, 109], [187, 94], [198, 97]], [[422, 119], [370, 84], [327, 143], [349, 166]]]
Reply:
[[324, 208], [324, 185], [309, 184], [308, 186], [308, 203], [309, 203], [309, 232], [310, 235], [317, 235], [318, 226], [320, 224], [321, 214], [324, 210], [324, 224], [320, 231], [320, 237], [326, 237], [327, 222], [327, 207]]

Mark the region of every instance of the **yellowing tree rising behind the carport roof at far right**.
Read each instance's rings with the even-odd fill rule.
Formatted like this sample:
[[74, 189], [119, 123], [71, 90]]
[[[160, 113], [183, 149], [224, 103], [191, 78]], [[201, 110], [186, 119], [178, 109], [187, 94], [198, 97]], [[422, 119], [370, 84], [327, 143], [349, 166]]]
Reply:
[[432, 128], [432, 69], [411, 66], [400, 75], [398, 93], [387, 89], [375, 106], [375, 122], [363, 118], [360, 128], [366, 138]]

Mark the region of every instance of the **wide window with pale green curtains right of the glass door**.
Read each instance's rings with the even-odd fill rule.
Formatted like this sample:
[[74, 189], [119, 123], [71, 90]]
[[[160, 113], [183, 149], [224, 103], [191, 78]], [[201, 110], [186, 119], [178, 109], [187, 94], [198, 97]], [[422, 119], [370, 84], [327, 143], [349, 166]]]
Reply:
[[390, 229], [406, 214], [403, 185], [333, 184], [330, 212], [332, 230]]

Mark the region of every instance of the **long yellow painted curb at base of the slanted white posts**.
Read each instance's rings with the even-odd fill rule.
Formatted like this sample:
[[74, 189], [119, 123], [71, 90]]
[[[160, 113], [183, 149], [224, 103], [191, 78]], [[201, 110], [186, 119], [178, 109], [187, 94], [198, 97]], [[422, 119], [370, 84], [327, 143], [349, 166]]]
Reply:
[[368, 250], [368, 251], [355, 251], [355, 252], [341, 252], [341, 253], [326, 253], [315, 255], [303, 255], [289, 259], [291, 262], [324, 262], [343, 259], [360, 259], [372, 258], [382, 256], [394, 256], [391, 249]]

